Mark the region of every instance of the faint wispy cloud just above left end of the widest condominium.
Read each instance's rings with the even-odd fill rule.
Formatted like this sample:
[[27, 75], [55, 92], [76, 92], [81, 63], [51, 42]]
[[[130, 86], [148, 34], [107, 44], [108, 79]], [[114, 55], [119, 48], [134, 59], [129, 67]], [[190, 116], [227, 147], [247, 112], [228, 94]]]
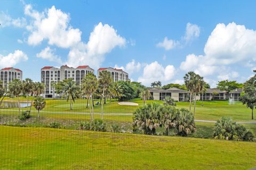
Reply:
[[49, 46], [44, 48], [40, 53], [36, 54], [37, 58], [42, 58], [48, 61], [57, 62], [59, 64], [62, 64], [60, 56], [54, 54], [55, 50], [52, 50]]

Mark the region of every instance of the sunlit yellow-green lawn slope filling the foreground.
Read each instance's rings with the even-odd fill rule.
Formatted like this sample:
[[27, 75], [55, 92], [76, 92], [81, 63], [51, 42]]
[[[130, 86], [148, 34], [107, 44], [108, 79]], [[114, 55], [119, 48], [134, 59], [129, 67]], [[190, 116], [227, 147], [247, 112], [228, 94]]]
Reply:
[[256, 143], [0, 126], [0, 169], [249, 169]]

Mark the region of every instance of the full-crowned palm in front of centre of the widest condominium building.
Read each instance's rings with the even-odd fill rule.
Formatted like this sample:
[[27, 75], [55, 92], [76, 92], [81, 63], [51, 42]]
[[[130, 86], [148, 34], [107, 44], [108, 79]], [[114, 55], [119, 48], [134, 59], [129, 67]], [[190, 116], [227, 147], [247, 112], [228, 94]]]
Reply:
[[67, 101], [70, 102], [70, 110], [72, 110], [72, 104], [75, 102], [75, 98], [77, 98], [77, 93], [79, 91], [79, 87], [76, 86], [74, 81], [68, 81], [63, 83], [63, 90]]

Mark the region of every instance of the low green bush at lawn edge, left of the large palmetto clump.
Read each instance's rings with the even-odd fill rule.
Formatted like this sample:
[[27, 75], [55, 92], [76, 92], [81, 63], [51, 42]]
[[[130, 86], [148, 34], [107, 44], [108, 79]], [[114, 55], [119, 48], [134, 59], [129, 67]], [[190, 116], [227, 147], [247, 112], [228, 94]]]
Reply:
[[95, 119], [91, 122], [83, 122], [80, 124], [79, 129], [87, 130], [87, 131], [99, 131], [99, 132], [106, 132], [107, 125], [101, 119]]

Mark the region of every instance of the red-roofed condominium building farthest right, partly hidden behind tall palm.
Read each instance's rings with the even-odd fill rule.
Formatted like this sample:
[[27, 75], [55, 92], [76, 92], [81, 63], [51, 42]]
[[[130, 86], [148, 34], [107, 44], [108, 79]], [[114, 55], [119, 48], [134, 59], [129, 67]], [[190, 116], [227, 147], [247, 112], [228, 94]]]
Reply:
[[99, 68], [98, 69], [98, 77], [99, 77], [101, 71], [109, 71], [111, 74], [111, 78], [114, 80], [114, 82], [117, 82], [120, 80], [124, 80], [124, 81], [129, 80], [128, 73], [123, 71], [122, 69], [116, 69], [116, 68], [112, 68], [112, 67]]

